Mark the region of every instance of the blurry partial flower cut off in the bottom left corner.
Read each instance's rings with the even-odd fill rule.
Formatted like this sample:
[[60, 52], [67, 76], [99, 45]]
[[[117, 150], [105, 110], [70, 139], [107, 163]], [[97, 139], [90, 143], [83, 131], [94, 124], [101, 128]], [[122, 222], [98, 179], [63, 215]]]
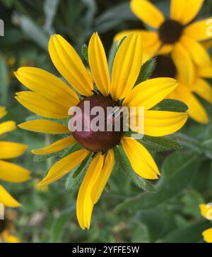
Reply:
[[15, 217], [14, 213], [7, 212], [4, 220], [0, 220], [0, 243], [20, 243], [20, 239], [13, 234]]

